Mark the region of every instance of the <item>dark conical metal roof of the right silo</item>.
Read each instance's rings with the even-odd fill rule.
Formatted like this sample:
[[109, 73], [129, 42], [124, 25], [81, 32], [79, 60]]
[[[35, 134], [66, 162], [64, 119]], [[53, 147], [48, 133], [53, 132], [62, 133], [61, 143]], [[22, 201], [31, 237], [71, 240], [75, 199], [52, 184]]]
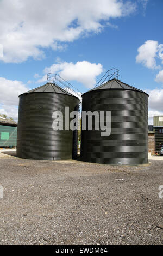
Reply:
[[[91, 92], [92, 90], [102, 90], [102, 89], [124, 89], [124, 90], [134, 90], [134, 91], [137, 91], [137, 92], [145, 93], [145, 92], [143, 92], [143, 90], [137, 89], [133, 86], [129, 86], [129, 84], [123, 83], [123, 82], [121, 82], [121, 80], [118, 80], [116, 78], [111, 79], [108, 82], [103, 83], [100, 86], [89, 90], [88, 92]], [[145, 93], [145, 94], [147, 94], [147, 93]]]

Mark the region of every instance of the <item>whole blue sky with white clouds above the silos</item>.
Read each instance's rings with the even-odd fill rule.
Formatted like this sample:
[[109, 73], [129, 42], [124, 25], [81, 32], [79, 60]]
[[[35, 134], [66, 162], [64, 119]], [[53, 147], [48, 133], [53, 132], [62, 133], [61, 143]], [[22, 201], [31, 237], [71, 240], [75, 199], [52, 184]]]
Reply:
[[162, 12], [162, 0], [1, 0], [0, 113], [16, 120], [18, 94], [49, 71], [86, 92], [117, 68], [121, 81], [149, 93], [152, 124], [163, 114]]

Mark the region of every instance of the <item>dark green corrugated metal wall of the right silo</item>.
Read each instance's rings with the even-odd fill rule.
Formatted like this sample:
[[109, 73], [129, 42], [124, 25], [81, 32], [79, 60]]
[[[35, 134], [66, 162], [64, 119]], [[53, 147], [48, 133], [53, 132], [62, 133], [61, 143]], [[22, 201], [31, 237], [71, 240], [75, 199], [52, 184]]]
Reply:
[[103, 89], [83, 95], [82, 111], [111, 111], [111, 134], [82, 131], [81, 160], [106, 164], [148, 162], [148, 95]]

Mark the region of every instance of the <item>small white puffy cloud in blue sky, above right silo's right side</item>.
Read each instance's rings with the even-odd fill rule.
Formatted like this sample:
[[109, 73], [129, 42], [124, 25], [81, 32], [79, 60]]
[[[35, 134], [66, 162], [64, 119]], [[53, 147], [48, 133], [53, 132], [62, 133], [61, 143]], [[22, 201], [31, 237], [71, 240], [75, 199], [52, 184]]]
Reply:
[[139, 54], [136, 56], [136, 62], [142, 63], [149, 69], [156, 69], [156, 53], [158, 52], [158, 41], [147, 40], [141, 45], [137, 51]]

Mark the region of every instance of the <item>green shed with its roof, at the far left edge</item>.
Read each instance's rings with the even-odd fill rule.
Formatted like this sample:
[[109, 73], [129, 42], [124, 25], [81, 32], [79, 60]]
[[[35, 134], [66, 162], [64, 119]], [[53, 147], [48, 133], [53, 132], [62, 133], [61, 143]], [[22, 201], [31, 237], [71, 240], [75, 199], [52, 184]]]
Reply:
[[17, 123], [0, 115], [0, 147], [14, 147], [17, 141]]

